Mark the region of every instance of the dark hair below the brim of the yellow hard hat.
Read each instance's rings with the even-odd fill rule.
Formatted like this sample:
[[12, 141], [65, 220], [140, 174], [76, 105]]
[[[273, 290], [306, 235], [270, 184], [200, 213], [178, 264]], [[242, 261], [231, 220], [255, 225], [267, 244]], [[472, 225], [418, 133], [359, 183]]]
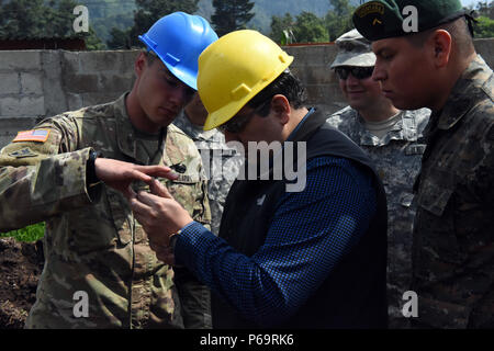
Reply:
[[[305, 105], [306, 94], [301, 81], [293, 76], [288, 69], [283, 71], [277, 79], [274, 79], [268, 87], [262, 89], [256, 97], [254, 97], [247, 105], [256, 109], [260, 106], [266, 100], [276, 94], [284, 95], [294, 109], [300, 109]], [[269, 114], [270, 105], [259, 111], [259, 115], [267, 116]]]

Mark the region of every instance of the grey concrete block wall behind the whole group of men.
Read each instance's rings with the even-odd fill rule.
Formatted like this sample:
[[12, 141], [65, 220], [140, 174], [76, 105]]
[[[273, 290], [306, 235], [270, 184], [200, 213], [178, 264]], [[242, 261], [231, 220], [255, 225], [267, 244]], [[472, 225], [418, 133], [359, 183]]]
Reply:
[[[478, 39], [475, 47], [494, 67], [494, 38]], [[295, 57], [291, 69], [305, 84], [310, 105], [327, 113], [346, 105], [329, 70], [335, 45], [284, 49]], [[0, 52], [0, 148], [43, 117], [108, 102], [130, 90], [138, 50]]]

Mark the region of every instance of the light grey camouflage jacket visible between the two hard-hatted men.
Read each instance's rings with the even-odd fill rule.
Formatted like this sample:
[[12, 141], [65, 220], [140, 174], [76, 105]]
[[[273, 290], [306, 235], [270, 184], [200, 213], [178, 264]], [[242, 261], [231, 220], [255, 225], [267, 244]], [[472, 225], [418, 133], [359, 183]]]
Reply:
[[223, 133], [217, 129], [204, 132], [202, 127], [194, 126], [184, 111], [179, 114], [173, 124], [194, 140], [201, 152], [207, 178], [211, 228], [217, 235], [226, 195], [237, 178], [243, 157], [235, 149], [226, 146]]

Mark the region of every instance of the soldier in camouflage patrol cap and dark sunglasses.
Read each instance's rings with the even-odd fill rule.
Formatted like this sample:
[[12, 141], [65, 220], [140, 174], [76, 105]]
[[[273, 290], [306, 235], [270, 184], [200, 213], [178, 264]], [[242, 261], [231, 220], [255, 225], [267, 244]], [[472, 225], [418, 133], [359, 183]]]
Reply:
[[423, 131], [430, 110], [397, 110], [371, 78], [375, 64], [371, 43], [352, 30], [336, 39], [333, 68], [348, 106], [327, 122], [345, 133], [369, 158], [384, 184], [388, 197], [388, 313], [390, 328], [408, 328], [402, 314], [402, 296], [408, 290], [412, 267], [412, 203], [414, 179], [425, 150]]

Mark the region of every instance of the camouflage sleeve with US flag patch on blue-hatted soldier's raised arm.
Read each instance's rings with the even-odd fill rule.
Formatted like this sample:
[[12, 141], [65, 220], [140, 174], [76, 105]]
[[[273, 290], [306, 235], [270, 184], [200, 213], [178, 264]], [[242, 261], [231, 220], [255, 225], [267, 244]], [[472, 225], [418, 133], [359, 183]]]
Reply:
[[86, 186], [90, 148], [77, 150], [77, 126], [49, 118], [0, 151], [0, 231], [22, 228], [90, 204], [100, 186]]

